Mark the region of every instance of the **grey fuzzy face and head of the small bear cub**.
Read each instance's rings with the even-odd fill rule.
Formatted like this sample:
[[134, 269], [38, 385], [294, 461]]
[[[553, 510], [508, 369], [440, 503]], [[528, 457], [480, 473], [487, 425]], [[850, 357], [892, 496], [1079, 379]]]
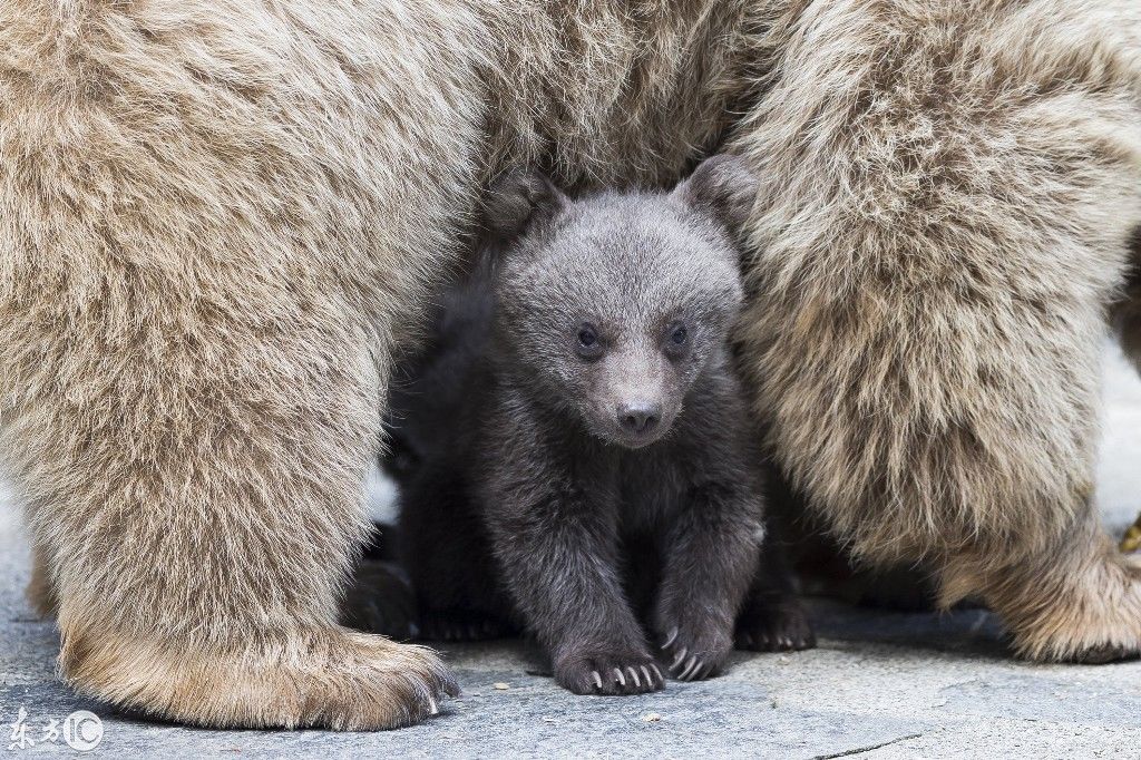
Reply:
[[496, 340], [604, 440], [638, 448], [661, 439], [723, 355], [742, 300], [725, 196], [755, 195], [751, 176], [735, 160], [726, 170], [726, 160], [669, 194], [570, 201], [529, 175], [507, 199], [537, 200], [502, 238]]

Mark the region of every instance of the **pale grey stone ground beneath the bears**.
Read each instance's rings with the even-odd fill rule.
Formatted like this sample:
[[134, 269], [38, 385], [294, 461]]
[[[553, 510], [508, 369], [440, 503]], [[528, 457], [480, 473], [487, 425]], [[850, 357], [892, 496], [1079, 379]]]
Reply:
[[[1141, 382], [1107, 356], [1099, 498], [1116, 533], [1141, 508]], [[208, 731], [147, 722], [79, 697], [55, 678], [55, 628], [22, 597], [27, 551], [0, 498], [0, 751], [124, 757], [1141, 757], [1141, 662], [1012, 660], [981, 611], [892, 614], [816, 601], [820, 646], [735, 657], [723, 677], [638, 697], [577, 697], [536, 673], [519, 642], [445, 653], [464, 694], [421, 726], [378, 734]], [[14, 733], [21, 709], [25, 738]], [[46, 728], [59, 721], [51, 739]], [[71, 728], [71, 733], [68, 733]], [[11, 747], [11, 749], [8, 749]]]

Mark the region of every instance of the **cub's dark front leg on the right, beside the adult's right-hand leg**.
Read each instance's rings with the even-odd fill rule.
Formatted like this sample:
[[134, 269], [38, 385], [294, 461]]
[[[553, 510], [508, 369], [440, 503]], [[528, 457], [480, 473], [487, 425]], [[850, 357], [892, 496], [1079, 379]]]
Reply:
[[653, 616], [670, 672], [686, 681], [715, 673], [733, 649], [763, 533], [760, 503], [747, 488], [705, 484], [687, 500], [662, 550]]

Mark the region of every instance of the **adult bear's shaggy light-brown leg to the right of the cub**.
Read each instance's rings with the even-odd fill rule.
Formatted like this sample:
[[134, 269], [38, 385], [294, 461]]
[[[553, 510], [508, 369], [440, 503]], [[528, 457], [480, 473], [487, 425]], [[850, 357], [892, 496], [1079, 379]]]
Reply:
[[767, 178], [759, 412], [860, 557], [942, 568], [942, 598], [981, 593], [1028, 656], [1139, 652], [1141, 582], [1091, 495], [1141, 223], [1141, 14], [913, 10], [807, 9], [731, 142]]

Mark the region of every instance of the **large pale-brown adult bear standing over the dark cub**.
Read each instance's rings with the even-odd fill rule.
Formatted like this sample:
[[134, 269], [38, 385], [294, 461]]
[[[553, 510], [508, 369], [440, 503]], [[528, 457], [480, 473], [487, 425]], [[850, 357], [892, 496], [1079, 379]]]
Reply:
[[1028, 656], [1141, 649], [1090, 504], [1135, 1], [10, 0], [0, 414], [65, 677], [211, 726], [432, 710], [435, 655], [335, 623], [394, 350], [509, 163], [714, 149], [764, 179], [741, 338], [835, 535]]

